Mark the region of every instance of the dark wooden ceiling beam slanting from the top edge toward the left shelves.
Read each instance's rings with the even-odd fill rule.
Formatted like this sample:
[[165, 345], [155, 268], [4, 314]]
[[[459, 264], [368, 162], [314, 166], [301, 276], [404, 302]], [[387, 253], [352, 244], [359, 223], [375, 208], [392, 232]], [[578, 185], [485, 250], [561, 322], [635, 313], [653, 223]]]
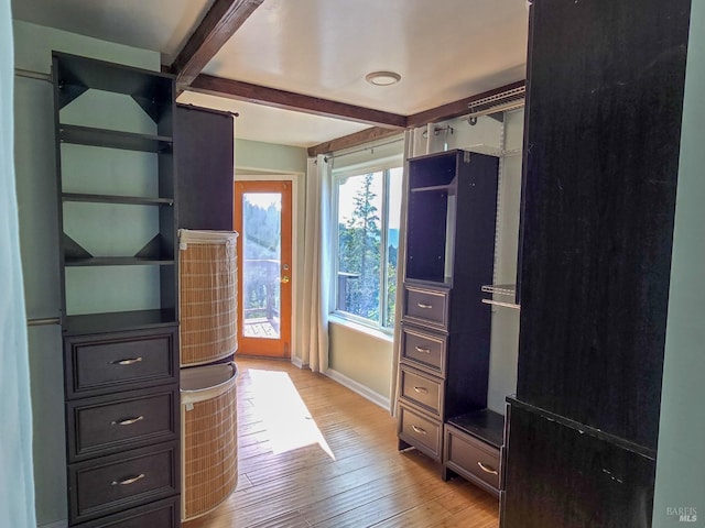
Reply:
[[263, 1], [216, 0], [171, 66], [176, 85], [182, 88], [191, 85]]

